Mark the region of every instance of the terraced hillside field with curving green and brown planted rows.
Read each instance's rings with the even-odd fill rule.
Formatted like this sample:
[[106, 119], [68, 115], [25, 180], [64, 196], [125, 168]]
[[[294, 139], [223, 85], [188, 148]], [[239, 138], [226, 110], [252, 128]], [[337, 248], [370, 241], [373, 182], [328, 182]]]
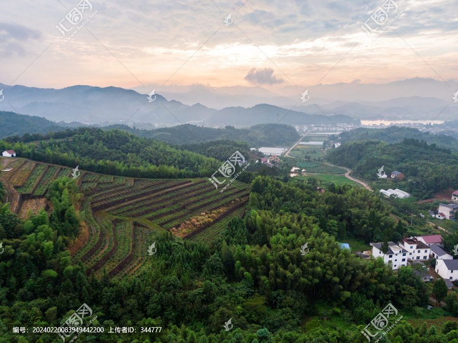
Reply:
[[[12, 170], [0, 177], [7, 182], [12, 208], [22, 218], [46, 208], [50, 182], [72, 171], [25, 159], [8, 167]], [[208, 179], [134, 179], [82, 170], [76, 184], [84, 194], [84, 225], [69, 246], [71, 261], [81, 261], [88, 275], [100, 276], [106, 270], [110, 277], [132, 275], [154, 258], [148, 246], [164, 231], [183, 239], [213, 241], [232, 217], [243, 215], [249, 195], [248, 185], [238, 181], [220, 193]]]

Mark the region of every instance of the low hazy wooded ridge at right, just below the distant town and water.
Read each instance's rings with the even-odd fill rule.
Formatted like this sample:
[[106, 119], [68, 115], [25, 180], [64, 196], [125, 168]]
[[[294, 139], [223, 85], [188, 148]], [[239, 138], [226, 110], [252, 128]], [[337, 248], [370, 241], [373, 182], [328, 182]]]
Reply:
[[[386, 129], [366, 129], [357, 128], [351, 131], [344, 131], [340, 134], [342, 143], [347, 141], [377, 139], [387, 143], [398, 143], [404, 138], [415, 138], [424, 140], [428, 144], [436, 144], [441, 147], [458, 149], [458, 139], [445, 134], [430, 134], [421, 132], [418, 129], [404, 126], [390, 126]], [[330, 137], [329, 140], [336, 140], [336, 137]]]

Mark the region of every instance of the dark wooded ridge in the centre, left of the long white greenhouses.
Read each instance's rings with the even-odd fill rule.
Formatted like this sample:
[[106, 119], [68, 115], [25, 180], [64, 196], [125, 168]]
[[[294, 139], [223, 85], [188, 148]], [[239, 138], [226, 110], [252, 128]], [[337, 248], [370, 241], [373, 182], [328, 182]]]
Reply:
[[190, 124], [156, 130], [139, 130], [125, 125], [111, 125], [104, 129], [119, 128], [140, 137], [165, 141], [170, 144], [194, 144], [212, 140], [242, 140], [251, 147], [290, 146], [300, 138], [296, 129], [285, 124], [258, 124], [249, 129], [236, 129], [226, 126], [224, 129], [213, 129]]

